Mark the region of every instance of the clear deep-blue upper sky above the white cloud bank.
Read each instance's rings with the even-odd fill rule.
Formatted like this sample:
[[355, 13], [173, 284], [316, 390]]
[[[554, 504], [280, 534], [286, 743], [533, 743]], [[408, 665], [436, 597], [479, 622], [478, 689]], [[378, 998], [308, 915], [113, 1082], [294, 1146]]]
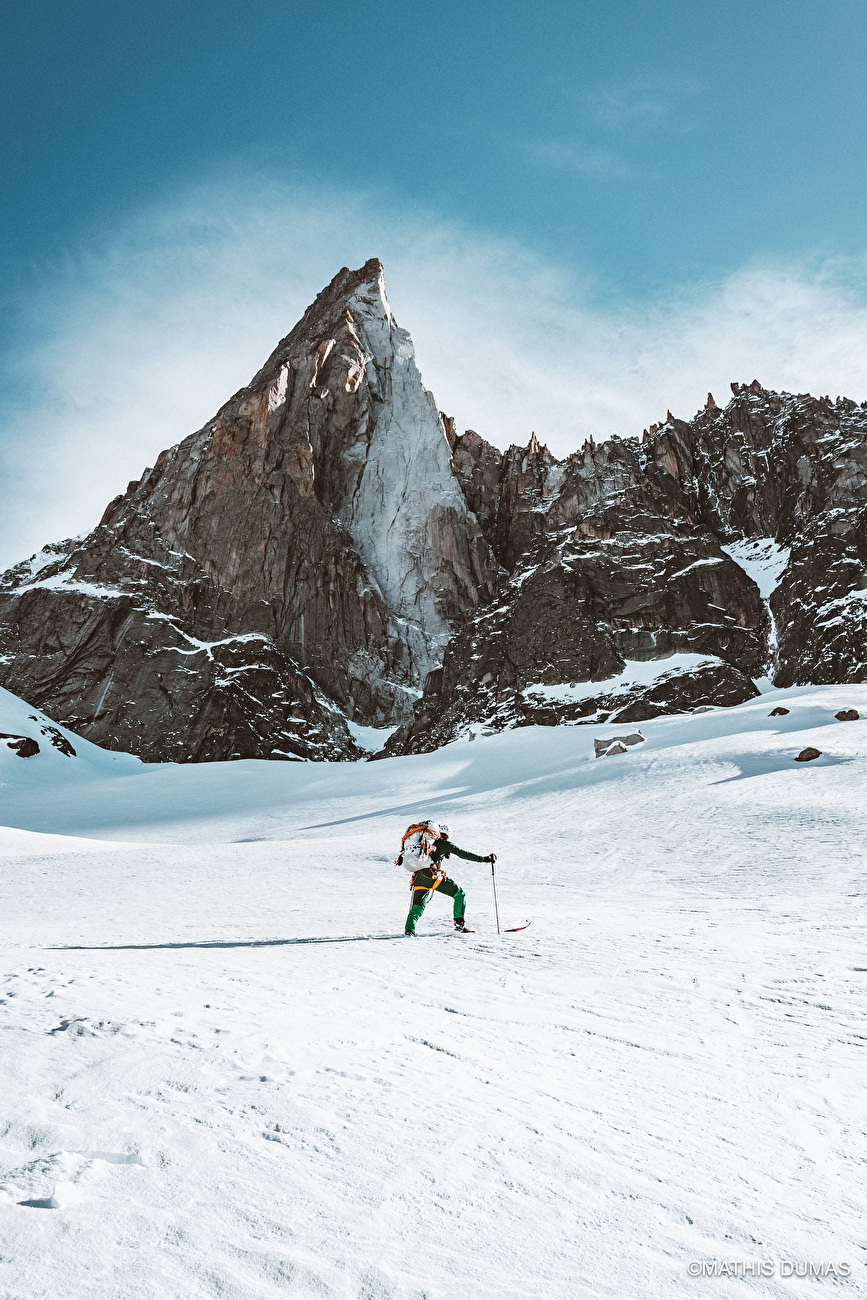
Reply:
[[234, 156], [382, 187], [616, 287], [861, 247], [861, 0], [6, 6], [23, 274]]

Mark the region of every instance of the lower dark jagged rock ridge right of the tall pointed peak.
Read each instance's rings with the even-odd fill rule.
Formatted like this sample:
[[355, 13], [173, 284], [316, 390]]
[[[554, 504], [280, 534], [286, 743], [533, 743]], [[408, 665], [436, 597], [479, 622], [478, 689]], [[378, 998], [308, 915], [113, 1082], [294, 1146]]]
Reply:
[[867, 410], [732, 385], [689, 422], [556, 460], [451, 433], [507, 576], [389, 753], [467, 727], [638, 722], [867, 679]]

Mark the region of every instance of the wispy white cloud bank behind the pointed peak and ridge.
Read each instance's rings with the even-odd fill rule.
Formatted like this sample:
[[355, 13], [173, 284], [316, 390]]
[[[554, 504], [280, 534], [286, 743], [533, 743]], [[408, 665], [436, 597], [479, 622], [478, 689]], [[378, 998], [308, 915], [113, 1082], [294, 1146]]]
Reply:
[[729, 380], [867, 395], [867, 264], [757, 264], [654, 303], [382, 196], [242, 176], [155, 205], [45, 274], [6, 359], [0, 566], [92, 526], [244, 385], [342, 265], [380, 256], [422, 376], [498, 446], [689, 416]]

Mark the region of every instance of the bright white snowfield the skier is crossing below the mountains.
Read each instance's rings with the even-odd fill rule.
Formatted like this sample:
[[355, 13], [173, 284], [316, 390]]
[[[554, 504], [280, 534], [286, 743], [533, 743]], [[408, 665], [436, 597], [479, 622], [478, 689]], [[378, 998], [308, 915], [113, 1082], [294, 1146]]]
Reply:
[[[177, 767], [0, 693], [3, 1300], [867, 1294], [851, 706]], [[458, 861], [390, 937], [420, 815], [528, 931]]]

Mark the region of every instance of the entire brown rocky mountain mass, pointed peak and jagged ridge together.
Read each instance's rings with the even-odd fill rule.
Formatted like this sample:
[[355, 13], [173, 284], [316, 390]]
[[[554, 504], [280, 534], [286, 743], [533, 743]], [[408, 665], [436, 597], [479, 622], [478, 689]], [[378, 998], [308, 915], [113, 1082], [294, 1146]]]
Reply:
[[867, 677], [867, 411], [733, 385], [556, 460], [438, 413], [382, 266], [86, 538], [0, 580], [0, 684], [142, 758], [357, 758]]

